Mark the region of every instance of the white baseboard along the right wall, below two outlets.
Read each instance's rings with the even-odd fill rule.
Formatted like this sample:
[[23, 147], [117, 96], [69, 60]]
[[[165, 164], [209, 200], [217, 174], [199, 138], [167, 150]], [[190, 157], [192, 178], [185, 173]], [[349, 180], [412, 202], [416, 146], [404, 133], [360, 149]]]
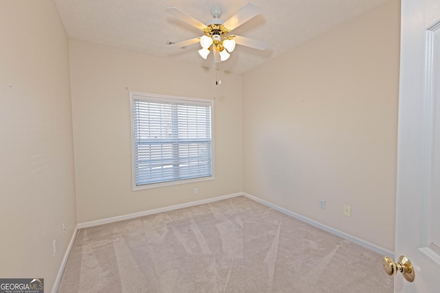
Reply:
[[267, 202], [265, 200], [262, 200], [261, 198], [251, 196], [250, 194], [246, 194], [246, 193], [243, 193], [243, 196], [249, 198], [250, 200], [254, 200], [256, 202], [264, 204], [266, 207], [270, 207], [272, 209], [275, 209], [276, 211], [280, 211], [281, 213], [285, 213], [286, 215], [289, 215], [292, 218], [296, 218], [296, 219], [303, 221], [307, 224], [311, 224], [311, 226], [315, 226], [316, 228], [320, 228], [321, 230], [327, 231], [333, 235], [337, 235], [339, 237], [347, 239], [350, 242], [353, 242], [353, 243], [358, 244], [360, 246], [364, 246], [365, 248], [369, 248], [370, 250], [373, 250], [376, 253], [379, 253], [380, 255], [387, 255], [387, 256], [393, 257], [393, 259], [394, 259], [394, 252], [392, 252], [392, 251], [386, 250], [380, 246], [376, 246], [375, 244], [371, 244], [369, 242], [366, 242], [362, 239], [359, 239], [358, 237], [354, 237], [354, 236], [349, 235], [347, 233], [338, 231], [338, 230], [331, 228], [329, 226], [325, 226], [324, 224], [320, 224], [319, 222], [316, 222], [314, 220], [310, 220], [309, 218], [305, 218], [302, 215], [298, 215], [297, 213], [294, 213], [294, 212], [289, 211], [287, 209], [283, 209], [282, 207], [278, 207], [277, 205], [272, 204], [270, 202]]

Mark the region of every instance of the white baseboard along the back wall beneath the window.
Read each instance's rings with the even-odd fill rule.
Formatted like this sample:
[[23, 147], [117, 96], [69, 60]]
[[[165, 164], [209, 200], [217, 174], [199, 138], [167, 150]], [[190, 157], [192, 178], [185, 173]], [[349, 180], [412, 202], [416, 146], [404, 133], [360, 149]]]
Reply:
[[143, 217], [144, 215], [153, 215], [155, 213], [163, 213], [164, 211], [173, 211], [175, 209], [183, 209], [185, 207], [194, 207], [199, 204], [207, 204], [209, 202], [217, 202], [219, 200], [225, 200], [228, 198], [235, 198], [237, 196], [244, 196], [244, 194], [242, 192], [239, 192], [237, 194], [229, 194], [227, 196], [218, 196], [217, 198], [208, 198], [206, 200], [197, 200], [195, 202], [176, 204], [176, 205], [173, 205], [170, 207], [162, 207], [160, 209], [151, 209], [148, 211], [140, 211], [138, 213], [130, 213], [128, 215], [118, 215], [117, 217], [113, 217], [113, 218], [107, 218], [107, 219], [102, 219], [102, 220], [80, 223], [80, 224], [78, 224], [78, 229], [99, 226], [102, 224], [109, 224], [109, 223], [119, 222], [119, 221], [123, 221], [123, 220], [134, 219], [134, 218], [138, 218], [138, 217]]

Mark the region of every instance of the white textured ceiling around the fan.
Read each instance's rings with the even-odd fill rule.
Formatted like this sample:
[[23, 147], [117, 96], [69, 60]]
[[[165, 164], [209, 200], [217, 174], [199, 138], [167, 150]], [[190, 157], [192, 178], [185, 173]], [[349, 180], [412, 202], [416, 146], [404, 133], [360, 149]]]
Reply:
[[265, 40], [269, 48], [259, 51], [237, 45], [231, 57], [214, 64], [212, 54], [203, 60], [198, 44], [186, 49], [166, 48], [202, 36], [197, 28], [167, 14], [177, 7], [206, 23], [214, 5], [223, 8], [228, 20], [247, 0], [55, 0], [69, 38], [98, 43], [142, 54], [169, 58], [201, 67], [244, 73], [263, 62], [331, 30], [388, 0], [255, 0], [261, 14], [241, 25], [234, 34]]

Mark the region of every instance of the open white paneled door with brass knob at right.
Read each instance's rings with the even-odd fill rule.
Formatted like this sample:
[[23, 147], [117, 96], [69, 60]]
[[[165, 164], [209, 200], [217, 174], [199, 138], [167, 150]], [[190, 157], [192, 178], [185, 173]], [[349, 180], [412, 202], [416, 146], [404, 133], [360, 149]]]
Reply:
[[400, 66], [395, 292], [440, 292], [440, 0], [401, 0]]

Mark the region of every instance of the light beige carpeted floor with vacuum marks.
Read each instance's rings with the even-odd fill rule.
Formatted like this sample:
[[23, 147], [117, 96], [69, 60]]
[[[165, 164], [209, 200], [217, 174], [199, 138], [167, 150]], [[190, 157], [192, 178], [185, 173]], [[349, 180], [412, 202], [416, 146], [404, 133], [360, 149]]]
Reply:
[[243, 196], [78, 231], [58, 292], [393, 292], [382, 255]]

